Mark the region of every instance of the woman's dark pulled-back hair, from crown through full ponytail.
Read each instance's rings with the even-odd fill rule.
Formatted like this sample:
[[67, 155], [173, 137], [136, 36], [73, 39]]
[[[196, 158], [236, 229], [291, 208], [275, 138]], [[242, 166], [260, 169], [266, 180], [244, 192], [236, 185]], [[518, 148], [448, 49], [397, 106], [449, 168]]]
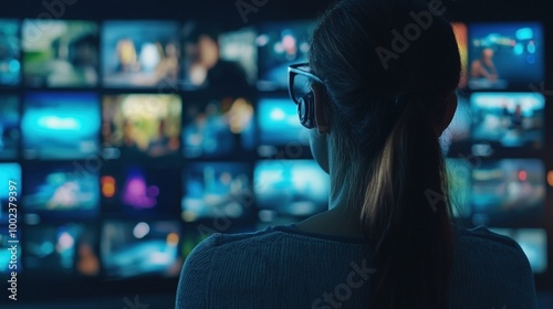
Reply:
[[445, 8], [431, 3], [340, 1], [311, 45], [326, 94], [331, 190], [349, 185], [375, 247], [372, 308], [447, 306], [452, 233], [438, 137], [461, 64]]

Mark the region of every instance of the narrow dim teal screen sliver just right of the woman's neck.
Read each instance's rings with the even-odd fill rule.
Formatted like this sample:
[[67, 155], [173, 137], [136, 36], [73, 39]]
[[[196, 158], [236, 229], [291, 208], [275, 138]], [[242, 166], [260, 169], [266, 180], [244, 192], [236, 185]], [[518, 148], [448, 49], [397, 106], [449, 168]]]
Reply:
[[446, 159], [449, 195], [455, 217], [470, 216], [471, 164], [465, 159]]

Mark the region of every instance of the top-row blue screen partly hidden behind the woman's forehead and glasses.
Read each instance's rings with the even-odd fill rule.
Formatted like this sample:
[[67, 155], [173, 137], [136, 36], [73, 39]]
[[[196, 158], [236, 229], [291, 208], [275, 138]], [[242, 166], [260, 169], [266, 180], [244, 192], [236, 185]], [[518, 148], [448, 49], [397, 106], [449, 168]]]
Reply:
[[288, 88], [288, 66], [307, 61], [314, 21], [271, 22], [259, 26], [258, 45], [260, 90]]

